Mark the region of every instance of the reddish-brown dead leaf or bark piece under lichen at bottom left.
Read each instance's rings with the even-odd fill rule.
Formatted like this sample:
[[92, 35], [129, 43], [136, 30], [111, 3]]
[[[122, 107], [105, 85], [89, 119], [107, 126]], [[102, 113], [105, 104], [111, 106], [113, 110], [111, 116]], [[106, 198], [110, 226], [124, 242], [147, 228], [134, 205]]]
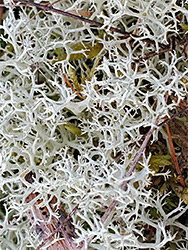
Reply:
[[[34, 174], [29, 172], [25, 179], [29, 183], [34, 182]], [[38, 192], [31, 192], [26, 198], [25, 202], [29, 203], [39, 195]], [[42, 207], [42, 199], [37, 199], [32, 205], [32, 209], [27, 211], [28, 218], [31, 224], [35, 225], [35, 231], [39, 235], [39, 239], [42, 243], [37, 247], [39, 250], [42, 246], [51, 243], [47, 250], [78, 250], [83, 249], [82, 244], [77, 246], [74, 243], [74, 239], [78, 238], [75, 227], [72, 224], [71, 217], [68, 218], [66, 211], [63, 206], [60, 205], [57, 208], [57, 198], [55, 196], [51, 197], [48, 195], [49, 208], [47, 206]], [[59, 218], [55, 216], [50, 216], [49, 209], [53, 212], [59, 213]], [[67, 219], [68, 218], [68, 219]], [[55, 241], [59, 236], [59, 240]], [[54, 242], [55, 241], [55, 242]]]

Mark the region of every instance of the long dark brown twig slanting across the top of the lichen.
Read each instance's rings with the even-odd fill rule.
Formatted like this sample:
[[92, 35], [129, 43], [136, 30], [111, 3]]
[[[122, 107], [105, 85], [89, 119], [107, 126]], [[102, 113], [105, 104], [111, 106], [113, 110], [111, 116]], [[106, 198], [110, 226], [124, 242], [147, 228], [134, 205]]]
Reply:
[[[54, 13], [57, 13], [57, 14], [60, 14], [60, 15], [63, 15], [63, 16], [67, 16], [67, 17], [70, 17], [70, 18], [73, 18], [73, 19], [76, 19], [76, 20], [79, 20], [79, 21], [82, 21], [82, 22], [85, 22], [85, 23], [89, 23], [89, 24], [91, 24], [91, 25], [93, 25], [95, 27], [98, 27], [98, 28], [104, 27], [104, 24], [102, 24], [100, 22], [93, 21], [93, 20], [90, 20], [90, 19], [82, 17], [82, 16], [77, 16], [77, 15], [72, 14], [70, 12], [59, 10], [59, 9], [53, 8], [51, 6], [46, 6], [46, 5], [43, 5], [43, 4], [38, 4], [38, 3], [35, 3], [35, 2], [30, 2], [30, 1], [27, 1], [27, 0], [14, 0], [14, 2], [24, 3], [24, 4], [28, 5], [28, 6], [33, 6], [33, 7], [42, 9], [44, 11], [50, 11], [50, 12], [54, 12]], [[108, 26], [106, 26], [104, 28], [105, 29], [108, 28], [112, 32], [119, 33], [119, 34], [123, 35], [125, 39], [128, 38], [128, 37], [132, 37], [133, 39], [140, 38], [140, 39], [142, 39], [143, 42], [146, 42], [148, 44], [153, 44], [153, 45], [156, 44], [156, 41], [154, 41], [152, 39], [143, 38], [142, 36], [134, 35], [132, 33], [129, 33], [129, 32], [126, 32], [126, 31], [123, 31], [123, 30], [120, 30], [120, 29], [117, 29], [115, 27], [108, 27]], [[169, 44], [165, 45], [165, 44], [159, 42], [158, 45], [162, 49], [168, 49], [169, 48]]]

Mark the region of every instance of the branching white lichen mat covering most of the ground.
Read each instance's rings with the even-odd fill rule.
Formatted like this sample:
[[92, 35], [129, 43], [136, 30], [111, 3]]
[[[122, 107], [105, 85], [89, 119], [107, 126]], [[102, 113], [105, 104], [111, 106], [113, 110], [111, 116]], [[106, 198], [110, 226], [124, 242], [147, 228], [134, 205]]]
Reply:
[[[180, 202], [165, 213], [166, 196], [147, 188], [154, 174], [148, 157], [143, 155], [143, 169], [128, 178], [127, 190], [121, 189], [140, 147], [140, 129], [154, 126], [159, 115], [162, 121], [187, 92], [182, 81], [188, 73], [185, 54], [172, 50], [162, 57], [137, 60], [159, 51], [159, 43], [167, 45], [168, 35], [178, 33], [178, 12], [181, 22], [187, 22], [188, 10], [182, 2], [66, 0], [53, 6], [77, 15], [84, 11], [89, 19], [104, 24], [97, 29], [57, 13], [39, 13], [35, 7], [15, 9], [13, 1], [4, 0], [11, 5], [0, 26], [2, 250], [38, 246], [26, 217], [36, 201], [25, 202], [32, 191], [39, 193], [43, 205], [48, 204], [49, 194], [55, 195], [67, 213], [80, 204], [72, 217], [79, 236], [76, 242], [87, 246], [94, 236], [89, 249], [158, 250], [167, 249], [168, 242], [186, 249], [188, 230], [178, 218], [187, 208]], [[125, 39], [109, 27], [138, 38]], [[87, 59], [87, 51], [95, 45], [99, 53]], [[71, 72], [77, 76], [72, 79], [80, 81], [79, 93], [85, 99], [65, 82], [64, 74], [71, 80]], [[167, 93], [176, 102], [168, 103]], [[35, 173], [33, 183], [25, 180], [30, 171]], [[101, 216], [113, 200], [118, 205], [102, 223]], [[160, 218], [151, 215], [153, 207]], [[144, 234], [147, 226], [155, 229], [150, 242]], [[178, 239], [177, 231], [182, 235]]]

